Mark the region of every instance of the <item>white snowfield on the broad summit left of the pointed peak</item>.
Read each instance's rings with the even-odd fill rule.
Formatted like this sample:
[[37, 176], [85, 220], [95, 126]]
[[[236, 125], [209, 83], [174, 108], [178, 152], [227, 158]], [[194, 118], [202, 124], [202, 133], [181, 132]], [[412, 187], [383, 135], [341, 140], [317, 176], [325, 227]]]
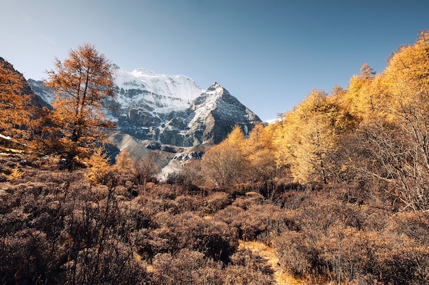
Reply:
[[204, 91], [184, 75], [158, 74], [143, 68], [132, 72], [114, 68], [114, 84], [122, 109], [141, 107], [158, 114], [184, 111]]

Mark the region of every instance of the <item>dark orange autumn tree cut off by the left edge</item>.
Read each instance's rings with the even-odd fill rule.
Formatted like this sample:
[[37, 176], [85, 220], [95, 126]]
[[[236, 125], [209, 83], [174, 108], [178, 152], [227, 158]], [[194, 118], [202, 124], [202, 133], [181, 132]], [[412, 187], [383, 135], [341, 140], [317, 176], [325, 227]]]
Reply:
[[0, 57], [0, 131], [5, 135], [26, 135], [32, 123], [31, 98], [23, 92], [25, 85], [22, 75]]

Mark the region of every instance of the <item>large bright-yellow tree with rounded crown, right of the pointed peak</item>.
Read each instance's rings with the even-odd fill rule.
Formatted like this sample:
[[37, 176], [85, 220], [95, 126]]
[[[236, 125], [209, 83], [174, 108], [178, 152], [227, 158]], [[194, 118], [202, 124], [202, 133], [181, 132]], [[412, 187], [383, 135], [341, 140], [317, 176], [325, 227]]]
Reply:
[[289, 167], [294, 180], [303, 184], [332, 180], [341, 167], [334, 154], [342, 133], [354, 126], [352, 116], [326, 92], [312, 90], [281, 124], [275, 133], [278, 167]]

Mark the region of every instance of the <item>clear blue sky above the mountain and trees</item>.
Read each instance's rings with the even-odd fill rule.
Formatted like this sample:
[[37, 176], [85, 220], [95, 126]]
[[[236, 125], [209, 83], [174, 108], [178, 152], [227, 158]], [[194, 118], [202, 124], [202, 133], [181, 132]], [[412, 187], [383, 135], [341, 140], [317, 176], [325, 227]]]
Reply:
[[429, 29], [428, 0], [0, 0], [0, 57], [27, 79], [90, 43], [121, 68], [217, 81], [262, 120], [347, 87]]

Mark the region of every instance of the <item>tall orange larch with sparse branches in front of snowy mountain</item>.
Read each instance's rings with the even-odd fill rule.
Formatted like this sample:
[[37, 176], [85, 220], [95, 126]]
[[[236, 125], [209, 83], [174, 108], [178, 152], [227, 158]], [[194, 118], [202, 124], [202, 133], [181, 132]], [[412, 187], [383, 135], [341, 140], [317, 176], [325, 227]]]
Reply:
[[56, 58], [45, 84], [55, 92], [49, 132], [67, 154], [73, 167], [77, 155], [86, 155], [114, 124], [103, 116], [105, 100], [114, 96], [111, 63], [95, 46], [84, 44], [69, 51], [69, 58]]

